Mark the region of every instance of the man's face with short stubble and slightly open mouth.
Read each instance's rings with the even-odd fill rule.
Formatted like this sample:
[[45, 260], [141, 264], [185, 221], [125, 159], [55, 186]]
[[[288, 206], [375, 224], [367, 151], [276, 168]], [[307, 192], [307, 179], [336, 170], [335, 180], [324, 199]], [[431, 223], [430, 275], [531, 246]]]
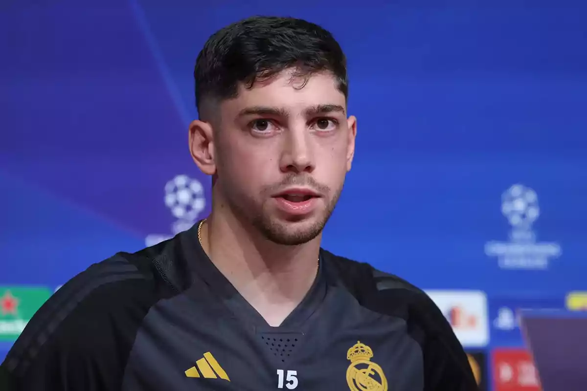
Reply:
[[[304, 84], [305, 82], [305, 84]], [[339, 198], [355, 149], [356, 120], [329, 73], [286, 70], [220, 104], [214, 192], [279, 244], [314, 239]]]

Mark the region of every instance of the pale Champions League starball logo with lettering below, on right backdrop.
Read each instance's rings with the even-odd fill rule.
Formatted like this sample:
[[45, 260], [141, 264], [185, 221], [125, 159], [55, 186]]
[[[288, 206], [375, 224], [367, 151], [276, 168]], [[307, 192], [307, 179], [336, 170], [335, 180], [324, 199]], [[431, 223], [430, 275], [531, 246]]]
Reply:
[[561, 246], [537, 242], [532, 224], [540, 215], [538, 196], [524, 185], [513, 185], [501, 196], [501, 212], [512, 229], [509, 242], [485, 244], [485, 254], [497, 257], [500, 268], [545, 270], [549, 260], [561, 255]]

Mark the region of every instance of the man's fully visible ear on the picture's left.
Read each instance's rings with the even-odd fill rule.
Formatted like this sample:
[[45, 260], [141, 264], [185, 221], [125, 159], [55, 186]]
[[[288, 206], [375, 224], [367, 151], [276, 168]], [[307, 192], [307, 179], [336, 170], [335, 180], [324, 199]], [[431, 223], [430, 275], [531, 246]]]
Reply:
[[210, 123], [194, 120], [190, 124], [190, 153], [195, 164], [206, 175], [216, 173], [214, 132]]

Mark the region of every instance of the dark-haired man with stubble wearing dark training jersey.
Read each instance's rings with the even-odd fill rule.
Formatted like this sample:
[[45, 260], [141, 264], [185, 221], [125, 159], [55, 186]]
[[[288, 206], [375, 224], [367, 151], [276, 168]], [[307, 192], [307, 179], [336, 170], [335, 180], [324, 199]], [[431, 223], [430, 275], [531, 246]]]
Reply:
[[208, 40], [194, 76], [210, 216], [60, 288], [2, 364], [5, 388], [475, 389], [426, 294], [320, 247], [357, 131], [332, 35], [249, 18]]

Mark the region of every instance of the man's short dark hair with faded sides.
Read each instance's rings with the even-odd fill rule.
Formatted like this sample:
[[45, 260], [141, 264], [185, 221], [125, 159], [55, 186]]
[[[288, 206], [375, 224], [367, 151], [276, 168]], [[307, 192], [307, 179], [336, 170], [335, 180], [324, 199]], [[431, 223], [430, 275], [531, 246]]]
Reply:
[[299, 76], [331, 72], [348, 97], [346, 57], [330, 32], [302, 19], [254, 16], [218, 30], [204, 44], [194, 69], [196, 107], [200, 111], [208, 98], [234, 98], [239, 83], [250, 88], [291, 67]]

